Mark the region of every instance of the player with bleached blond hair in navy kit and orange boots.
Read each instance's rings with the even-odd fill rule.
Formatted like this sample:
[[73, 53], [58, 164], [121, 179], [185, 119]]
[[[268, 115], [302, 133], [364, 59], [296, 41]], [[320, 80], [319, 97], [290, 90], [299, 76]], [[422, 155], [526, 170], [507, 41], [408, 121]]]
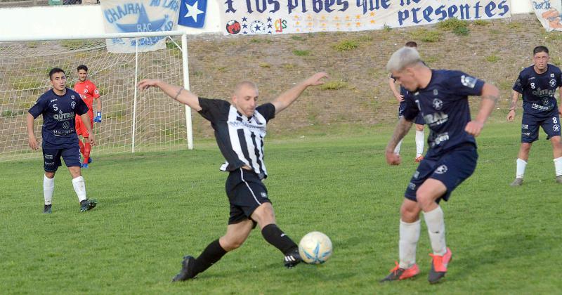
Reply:
[[[445, 273], [452, 252], [445, 244], [445, 219], [439, 206], [452, 190], [469, 178], [476, 169], [476, 140], [486, 119], [494, 109], [499, 91], [480, 79], [452, 70], [431, 70], [413, 48], [403, 47], [393, 53], [386, 65], [410, 93], [405, 97], [404, 116], [386, 146], [386, 162], [400, 164], [394, 148], [406, 135], [412, 121], [421, 113], [431, 131], [429, 150], [410, 183], [400, 207], [400, 263], [382, 282], [404, 280], [419, 274], [416, 247], [420, 234], [419, 214], [424, 219], [433, 249], [429, 282], [438, 282]], [[476, 119], [471, 120], [468, 96], [482, 96]]]

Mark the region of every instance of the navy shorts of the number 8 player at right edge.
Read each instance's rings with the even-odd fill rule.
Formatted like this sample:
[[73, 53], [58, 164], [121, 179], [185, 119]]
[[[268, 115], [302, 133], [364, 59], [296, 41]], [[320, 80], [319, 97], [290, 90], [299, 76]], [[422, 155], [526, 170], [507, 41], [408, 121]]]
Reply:
[[558, 110], [546, 119], [537, 118], [532, 114], [525, 114], [523, 112], [523, 119], [521, 119], [521, 143], [532, 143], [539, 139], [539, 126], [542, 127], [544, 133], [547, 133], [547, 138], [561, 136]]

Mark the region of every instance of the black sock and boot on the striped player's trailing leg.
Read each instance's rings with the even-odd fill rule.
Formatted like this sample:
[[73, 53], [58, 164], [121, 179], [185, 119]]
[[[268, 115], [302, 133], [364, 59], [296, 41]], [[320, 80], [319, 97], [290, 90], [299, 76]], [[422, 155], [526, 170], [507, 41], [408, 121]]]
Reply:
[[218, 240], [214, 240], [203, 250], [197, 259], [193, 256], [183, 257], [180, 273], [171, 281], [182, 282], [194, 278], [197, 274], [204, 272], [211, 265], [221, 260], [226, 253], [227, 251], [221, 247], [221, 243]]

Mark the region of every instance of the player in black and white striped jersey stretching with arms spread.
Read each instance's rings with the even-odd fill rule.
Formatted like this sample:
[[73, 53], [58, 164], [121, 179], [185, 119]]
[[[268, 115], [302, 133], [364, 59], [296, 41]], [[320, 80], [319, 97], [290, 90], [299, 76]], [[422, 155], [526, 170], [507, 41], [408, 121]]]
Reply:
[[195, 277], [228, 251], [242, 246], [256, 224], [259, 225], [263, 238], [283, 253], [283, 262], [287, 268], [302, 261], [297, 245], [275, 224], [273, 206], [262, 182], [267, 177], [263, 162], [263, 139], [266, 136], [267, 122], [299, 98], [308, 86], [323, 84], [324, 77], [327, 74], [314, 74], [271, 103], [259, 106], [259, 91], [249, 81], [237, 84], [231, 103], [200, 98], [183, 87], [164, 81], [148, 79], [138, 84], [141, 90], [152, 86], [161, 89], [166, 95], [190, 106], [209, 120], [215, 131], [218, 147], [226, 159], [221, 170], [229, 172], [226, 194], [230, 202], [230, 218], [226, 234], [211, 242], [199, 257], [185, 256], [181, 272], [174, 277], [173, 282]]

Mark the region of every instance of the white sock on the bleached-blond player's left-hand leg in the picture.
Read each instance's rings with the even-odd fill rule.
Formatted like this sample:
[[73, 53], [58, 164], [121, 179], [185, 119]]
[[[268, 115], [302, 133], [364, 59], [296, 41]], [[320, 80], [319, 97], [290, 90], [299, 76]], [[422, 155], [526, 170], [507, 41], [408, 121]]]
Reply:
[[420, 231], [421, 221], [419, 219], [412, 223], [400, 219], [400, 242], [398, 242], [400, 268], [407, 269], [416, 264], [416, 247]]

